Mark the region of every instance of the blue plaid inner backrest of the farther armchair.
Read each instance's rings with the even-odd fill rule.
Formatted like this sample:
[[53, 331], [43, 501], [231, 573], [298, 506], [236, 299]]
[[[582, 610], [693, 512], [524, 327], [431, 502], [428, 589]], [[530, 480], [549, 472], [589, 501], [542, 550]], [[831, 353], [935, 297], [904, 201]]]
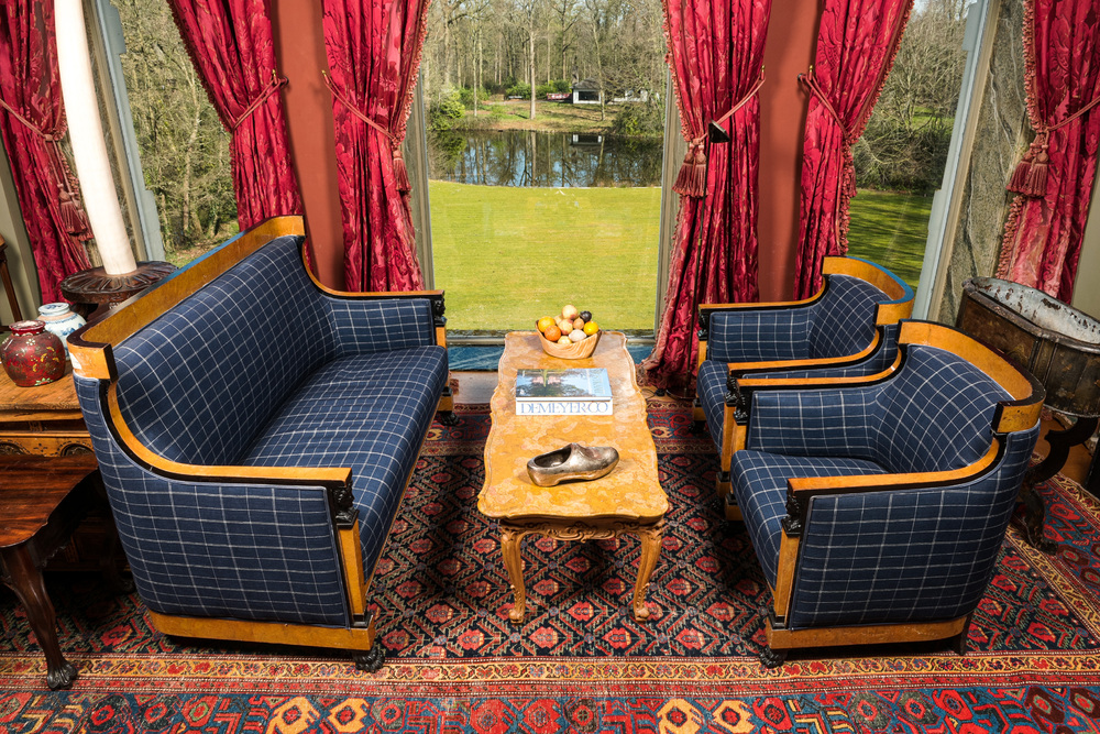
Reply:
[[846, 357], [866, 349], [875, 338], [876, 308], [888, 300], [862, 278], [829, 275], [810, 325], [810, 357]]

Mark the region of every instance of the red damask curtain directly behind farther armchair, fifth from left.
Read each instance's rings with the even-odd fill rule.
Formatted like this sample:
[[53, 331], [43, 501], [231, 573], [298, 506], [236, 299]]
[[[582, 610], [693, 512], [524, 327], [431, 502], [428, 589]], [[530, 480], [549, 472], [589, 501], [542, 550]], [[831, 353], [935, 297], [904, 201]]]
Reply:
[[825, 255], [848, 251], [848, 205], [856, 195], [851, 146], [871, 117], [912, 7], [913, 0], [824, 1], [814, 65], [800, 77], [810, 109], [802, 147], [795, 298], [821, 288]]

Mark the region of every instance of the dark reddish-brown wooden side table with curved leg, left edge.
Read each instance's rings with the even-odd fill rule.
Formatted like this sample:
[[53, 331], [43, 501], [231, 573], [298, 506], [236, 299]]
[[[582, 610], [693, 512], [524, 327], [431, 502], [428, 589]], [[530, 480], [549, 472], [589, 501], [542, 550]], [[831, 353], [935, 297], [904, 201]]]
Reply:
[[[95, 473], [95, 476], [89, 474]], [[96, 501], [96, 458], [0, 456], [0, 571], [26, 610], [46, 656], [50, 688], [67, 688], [74, 668], [57, 644], [42, 566], [66, 543]]]

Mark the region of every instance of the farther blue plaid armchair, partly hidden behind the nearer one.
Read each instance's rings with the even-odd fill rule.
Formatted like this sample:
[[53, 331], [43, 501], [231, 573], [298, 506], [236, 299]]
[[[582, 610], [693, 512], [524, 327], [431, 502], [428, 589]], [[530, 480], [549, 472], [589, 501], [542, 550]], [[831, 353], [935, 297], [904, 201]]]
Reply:
[[821, 291], [806, 300], [700, 306], [695, 420], [721, 454], [717, 491], [732, 518], [739, 511], [729, 461], [745, 438], [738, 383], [866, 376], [898, 355], [898, 322], [913, 313], [912, 288], [858, 258], [825, 258], [822, 273]]

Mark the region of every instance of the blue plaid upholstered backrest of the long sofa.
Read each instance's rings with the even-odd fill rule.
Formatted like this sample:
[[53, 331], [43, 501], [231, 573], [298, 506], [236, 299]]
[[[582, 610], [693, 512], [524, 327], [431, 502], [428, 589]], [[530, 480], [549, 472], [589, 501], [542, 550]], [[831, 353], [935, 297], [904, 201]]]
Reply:
[[272, 240], [114, 349], [119, 406], [172, 461], [231, 464], [336, 347], [301, 264], [301, 239]]

